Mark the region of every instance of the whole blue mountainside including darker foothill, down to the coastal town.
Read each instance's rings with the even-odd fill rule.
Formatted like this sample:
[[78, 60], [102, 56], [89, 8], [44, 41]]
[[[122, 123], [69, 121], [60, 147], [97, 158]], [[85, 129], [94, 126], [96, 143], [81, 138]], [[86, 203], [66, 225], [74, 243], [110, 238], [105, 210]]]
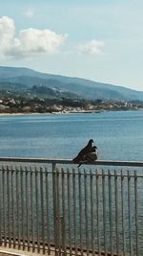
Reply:
[[[143, 92], [109, 83], [51, 75], [23, 67], [0, 66], [0, 90], [38, 92], [45, 97], [143, 101]], [[46, 89], [47, 88], [47, 89]]]

